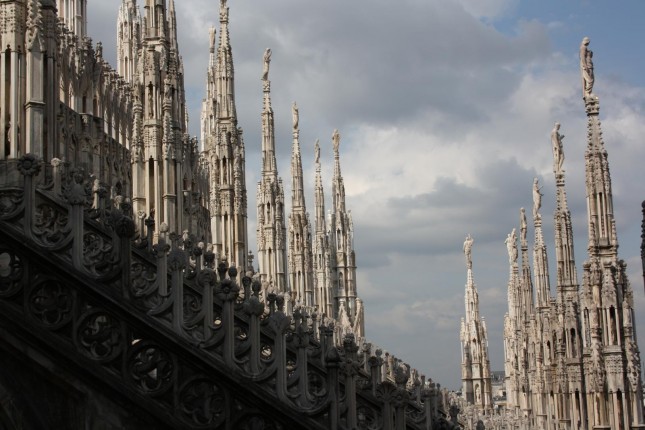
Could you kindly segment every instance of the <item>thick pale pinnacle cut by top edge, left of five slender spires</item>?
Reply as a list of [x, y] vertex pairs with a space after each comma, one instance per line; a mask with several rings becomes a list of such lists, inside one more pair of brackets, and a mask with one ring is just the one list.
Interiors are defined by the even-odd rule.
[[[132, 202], [171, 231], [207, 227], [191, 219], [200, 204], [197, 141], [188, 136], [184, 70], [174, 1], [122, 0], [117, 69], [132, 88]], [[202, 180], [203, 181], [203, 180]]]

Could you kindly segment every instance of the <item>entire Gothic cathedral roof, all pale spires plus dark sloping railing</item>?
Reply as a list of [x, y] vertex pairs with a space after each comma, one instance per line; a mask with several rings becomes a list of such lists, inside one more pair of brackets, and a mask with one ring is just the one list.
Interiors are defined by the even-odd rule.
[[[190, 137], [176, 2], [140, 3], [121, 0], [113, 68], [88, 37], [87, 0], [0, 1], [0, 428], [436, 430], [474, 428], [475, 417], [478, 429], [501, 428], [474, 239], [464, 243], [461, 324], [471, 406], [460, 411], [365, 338], [338, 130], [307, 155], [294, 102], [282, 180], [276, 153], [289, 143], [276, 141], [267, 49], [261, 139], [245, 142], [220, 0], [219, 27], [204, 34], [201, 136]], [[537, 179], [532, 267], [524, 209], [521, 252], [515, 229], [506, 240], [505, 428], [645, 428], [588, 45], [588, 258], [580, 284], [556, 123], [555, 297]], [[262, 154], [256, 255], [247, 145]], [[333, 155], [329, 206], [323, 147]], [[313, 217], [303, 157], [314, 160]]]

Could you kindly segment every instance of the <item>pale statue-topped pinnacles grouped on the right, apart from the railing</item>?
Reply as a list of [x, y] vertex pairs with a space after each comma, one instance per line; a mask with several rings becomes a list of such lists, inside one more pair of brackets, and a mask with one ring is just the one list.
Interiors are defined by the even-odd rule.
[[[565, 191], [563, 139], [560, 124], [551, 132], [556, 183], [556, 295], [551, 295], [547, 249], [542, 230], [542, 192], [533, 183], [533, 273], [529, 264], [527, 220], [520, 210], [520, 255], [516, 230], [508, 235], [508, 313], [504, 319], [506, 410], [491, 415], [487, 397], [473, 387], [486, 386], [490, 370], [468, 354], [483, 332], [473, 289], [470, 237], [464, 244], [468, 262], [467, 320], [462, 323], [464, 422], [481, 418], [486, 428], [639, 429], [645, 428], [641, 362], [634, 330], [633, 290], [626, 264], [618, 258], [618, 238], [607, 151], [602, 139], [600, 102], [592, 92], [594, 70], [589, 38], [580, 46], [582, 94], [587, 114], [585, 152], [588, 203], [588, 258], [578, 283], [571, 214]], [[645, 224], [644, 224], [645, 225]], [[474, 306], [473, 306], [474, 304]], [[475, 335], [473, 335], [475, 333]], [[477, 337], [477, 333], [481, 333]], [[471, 340], [472, 339], [472, 340]], [[473, 345], [473, 346], [471, 346]], [[474, 355], [474, 354], [470, 354]], [[480, 364], [480, 361], [483, 363]], [[483, 372], [483, 373], [477, 373]], [[490, 379], [488, 379], [490, 381]], [[486, 395], [489, 395], [486, 393]]]

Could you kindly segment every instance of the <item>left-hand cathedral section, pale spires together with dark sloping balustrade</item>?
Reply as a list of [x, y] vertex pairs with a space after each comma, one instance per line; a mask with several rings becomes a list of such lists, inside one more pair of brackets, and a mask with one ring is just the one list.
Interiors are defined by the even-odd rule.
[[[47, 360], [71, 357], [65, 377], [77, 386], [101, 391], [84, 385], [92, 375], [111, 387], [101, 405], [78, 406], [97, 426], [104, 417], [88, 411], [109, 404], [128, 411], [122, 428], [452, 428], [440, 387], [364, 338], [337, 132], [329, 213], [315, 148], [311, 233], [295, 105], [285, 227], [270, 52], [254, 273], [226, 1], [219, 44], [211, 31], [203, 152], [187, 133], [174, 1], [146, 0], [141, 15], [123, 0], [118, 72], [87, 38], [86, 10], [0, 3], [11, 17], [0, 44], [0, 328]], [[4, 384], [16, 398], [25, 389]]]

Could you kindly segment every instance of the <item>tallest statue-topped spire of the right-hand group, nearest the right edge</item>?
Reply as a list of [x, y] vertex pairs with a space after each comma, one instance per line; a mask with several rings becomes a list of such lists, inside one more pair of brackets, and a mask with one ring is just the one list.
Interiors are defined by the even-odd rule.
[[[600, 100], [592, 92], [592, 56], [589, 38], [585, 37], [580, 62], [587, 113], [585, 185], [589, 244], [588, 259], [583, 264], [581, 306], [585, 309], [583, 329], [589, 333], [585, 336], [585, 347], [591, 351], [584, 366], [584, 373], [590, 375], [588, 395], [594, 399], [589, 405], [594, 417], [590, 424], [598, 428], [624, 427], [623, 417], [610, 406], [620, 404], [630, 411], [630, 425], [635, 426], [632, 428], [641, 428], [645, 420], [640, 354], [631, 323], [634, 298], [626, 264], [618, 258], [609, 162], [599, 119]], [[615, 363], [621, 364], [617, 368]]]

